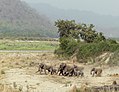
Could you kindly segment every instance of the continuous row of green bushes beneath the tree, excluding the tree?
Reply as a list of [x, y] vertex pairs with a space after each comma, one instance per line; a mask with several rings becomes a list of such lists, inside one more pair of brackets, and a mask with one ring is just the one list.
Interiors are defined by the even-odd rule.
[[119, 44], [115, 41], [107, 40], [99, 43], [77, 42], [72, 37], [63, 37], [60, 39], [60, 46], [55, 50], [59, 57], [69, 58], [76, 51], [78, 62], [87, 62], [88, 58], [96, 58], [104, 52], [115, 52], [119, 50]]

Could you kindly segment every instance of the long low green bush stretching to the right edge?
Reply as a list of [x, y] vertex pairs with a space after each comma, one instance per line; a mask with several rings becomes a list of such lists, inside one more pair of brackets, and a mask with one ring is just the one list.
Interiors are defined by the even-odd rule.
[[119, 44], [100, 43], [79, 43], [77, 59], [87, 60], [89, 57], [95, 58], [103, 52], [115, 52], [119, 50]]

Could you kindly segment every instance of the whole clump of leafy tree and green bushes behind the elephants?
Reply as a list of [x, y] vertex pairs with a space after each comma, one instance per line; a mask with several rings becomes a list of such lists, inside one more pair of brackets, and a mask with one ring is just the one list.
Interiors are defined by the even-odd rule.
[[55, 50], [55, 54], [60, 57], [70, 57], [75, 54], [80, 62], [80, 60], [87, 61], [90, 57], [95, 58], [103, 52], [119, 50], [119, 44], [115, 40], [106, 39], [101, 32], [96, 32], [93, 24], [58, 20], [55, 25], [60, 34], [59, 48]]

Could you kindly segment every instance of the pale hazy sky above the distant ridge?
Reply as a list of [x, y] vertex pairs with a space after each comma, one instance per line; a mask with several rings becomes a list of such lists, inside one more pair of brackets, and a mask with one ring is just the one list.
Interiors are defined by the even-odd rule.
[[99, 14], [119, 16], [119, 0], [23, 0], [28, 3], [47, 3], [63, 9], [78, 9]]

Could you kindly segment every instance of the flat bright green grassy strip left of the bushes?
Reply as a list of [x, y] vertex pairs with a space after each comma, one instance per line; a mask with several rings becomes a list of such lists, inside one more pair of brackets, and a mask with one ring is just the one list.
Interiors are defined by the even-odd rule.
[[0, 50], [55, 50], [57, 41], [0, 40]]

